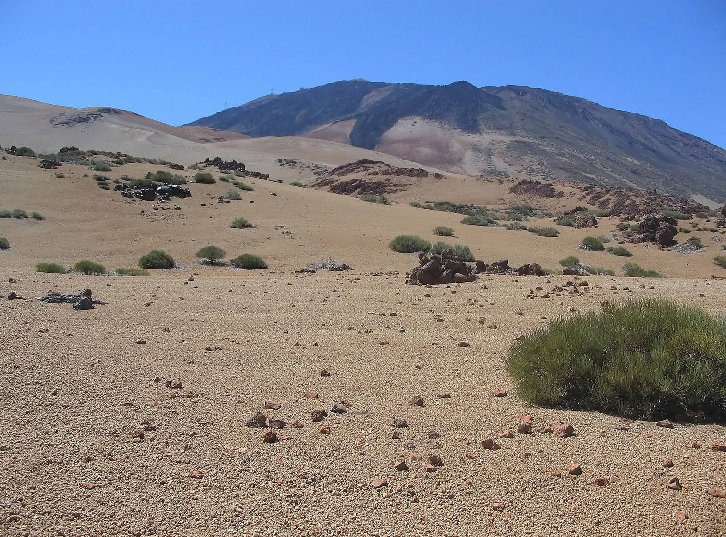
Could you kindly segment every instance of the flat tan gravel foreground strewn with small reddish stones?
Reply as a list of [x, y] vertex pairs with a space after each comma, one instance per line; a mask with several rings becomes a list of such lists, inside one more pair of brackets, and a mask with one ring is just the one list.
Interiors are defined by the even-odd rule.
[[[588, 277], [579, 296], [527, 299], [566, 278], [412, 288], [402, 274], [200, 272], [187, 285], [190, 272], [4, 276], [3, 298], [25, 299], [0, 302], [1, 535], [726, 532], [726, 499], [707, 493], [726, 491], [726, 453], [708, 449], [725, 427], [531, 407], [504, 367], [545, 317], [635, 296], [722, 312], [726, 281]], [[36, 300], [86, 287], [107, 304]], [[248, 427], [256, 412], [286, 422], [279, 441]], [[519, 433], [521, 415], [576, 434]]]

